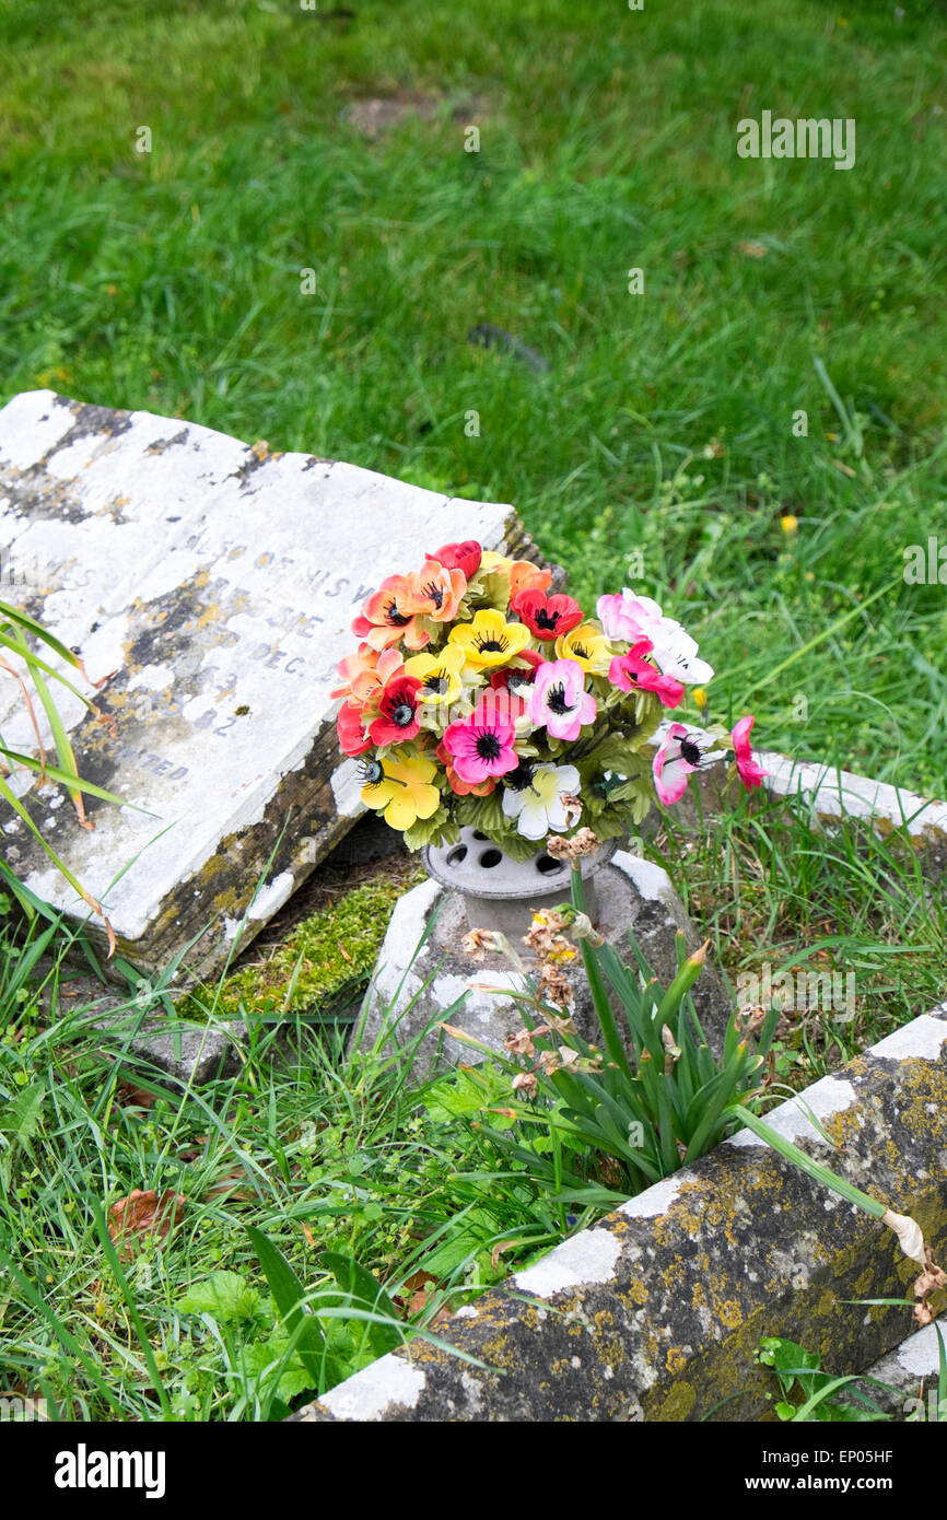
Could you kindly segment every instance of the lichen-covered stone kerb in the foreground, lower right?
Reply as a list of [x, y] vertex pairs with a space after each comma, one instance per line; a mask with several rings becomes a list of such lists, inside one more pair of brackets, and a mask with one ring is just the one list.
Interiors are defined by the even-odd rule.
[[[827, 1145], [807, 1110], [830, 1135]], [[912, 1214], [947, 1254], [947, 1005], [783, 1104], [769, 1122]], [[562, 1242], [295, 1421], [759, 1420], [781, 1335], [863, 1371], [911, 1330], [917, 1266], [894, 1234], [740, 1131]]]

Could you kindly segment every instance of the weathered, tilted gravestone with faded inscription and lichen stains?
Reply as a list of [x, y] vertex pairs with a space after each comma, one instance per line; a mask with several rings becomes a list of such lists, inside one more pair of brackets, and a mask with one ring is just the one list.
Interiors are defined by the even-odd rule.
[[[509, 506], [176, 418], [50, 391], [0, 410], [0, 599], [79, 649], [90, 681], [108, 675], [88, 692], [111, 733], [56, 701], [79, 774], [144, 812], [87, 801], [87, 831], [58, 789], [38, 795], [23, 771], [17, 787], [137, 965], [161, 968], [205, 930], [187, 964], [211, 974], [274, 848], [242, 945], [362, 812], [336, 748], [336, 663], [369, 591], [456, 538], [531, 550]], [[3, 673], [0, 734], [33, 749]], [[17, 874], [85, 918], [5, 804], [0, 828]]]

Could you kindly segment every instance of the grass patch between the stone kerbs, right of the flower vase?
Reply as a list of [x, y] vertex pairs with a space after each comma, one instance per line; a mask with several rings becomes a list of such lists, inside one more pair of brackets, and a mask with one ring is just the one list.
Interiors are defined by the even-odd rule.
[[797, 994], [800, 973], [841, 977], [839, 1006], [804, 993], [780, 1021], [774, 1078], [797, 1088], [939, 1003], [947, 959], [944, 903], [911, 845], [851, 822], [813, 825], [786, 801], [737, 798], [696, 828], [666, 816], [648, 844], [736, 991], [742, 973], [762, 985], [766, 964]]

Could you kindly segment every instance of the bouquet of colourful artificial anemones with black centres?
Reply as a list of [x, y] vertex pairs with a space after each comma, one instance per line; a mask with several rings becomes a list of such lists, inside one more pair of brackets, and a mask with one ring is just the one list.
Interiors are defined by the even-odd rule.
[[679, 623], [629, 590], [585, 617], [550, 585], [549, 568], [473, 540], [444, 544], [389, 576], [354, 620], [359, 648], [333, 692], [339, 745], [360, 760], [365, 804], [412, 850], [453, 844], [462, 825], [514, 859], [579, 827], [611, 839], [727, 752], [760, 784], [752, 717], [733, 734], [675, 722], [643, 754], [684, 689], [713, 676]]

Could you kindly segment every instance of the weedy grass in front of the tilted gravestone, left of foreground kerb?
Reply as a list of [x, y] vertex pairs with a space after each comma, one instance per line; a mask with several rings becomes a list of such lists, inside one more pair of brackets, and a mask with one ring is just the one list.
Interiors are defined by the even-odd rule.
[[[280, 1418], [378, 1354], [372, 1306], [324, 1252], [385, 1284], [382, 1332], [400, 1344], [591, 1218], [567, 1216], [464, 1119], [433, 1117], [407, 1058], [344, 1064], [330, 1032], [298, 1020], [280, 1049], [255, 1028], [231, 1079], [155, 1081], [129, 1052], [134, 1018], [103, 1035], [91, 1006], [58, 996], [67, 936], [46, 979], [21, 980], [41, 927], [0, 915], [0, 1388], [46, 1397], [52, 1417]], [[135, 1189], [179, 1195], [181, 1216], [123, 1259], [103, 1222]], [[325, 1327], [315, 1374], [248, 1227]]]

